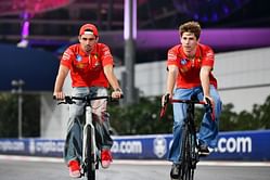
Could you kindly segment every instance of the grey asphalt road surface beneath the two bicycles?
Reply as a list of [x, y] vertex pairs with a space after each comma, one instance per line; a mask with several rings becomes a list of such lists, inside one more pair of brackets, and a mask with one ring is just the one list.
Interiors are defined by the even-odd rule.
[[[169, 180], [167, 162], [115, 160], [110, 169], [100, 169], [98, 180]], [[67, 180], [61, 159], [9, 158], [0, 156], [0, 180]], [[200, 162], [195, 180], [269, 180], [270, 164]]]

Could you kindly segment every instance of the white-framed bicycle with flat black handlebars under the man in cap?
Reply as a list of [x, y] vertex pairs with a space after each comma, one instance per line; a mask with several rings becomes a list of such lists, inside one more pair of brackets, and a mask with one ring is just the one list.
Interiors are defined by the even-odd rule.
[[[123, 98], [123, 97], [121, 97]], [[55, 98], [54, 98], [55, 99]], [[80, 100], [86, 103], [85, 114], [86, 123], [83, 125], [82, 134], [82, 164], [81, 164], [81, 177], [86, 177], [87, 180], [95, 180], [95, 170], [99, 169], [101, 157], [100, 150], [97, 147], [95, 141], [95, 129], [92, 121], [92, 108], [91, 101], [93, 100], [110, 100], [113, 101], [112, 97], [65, 97], [64, 101], [59, 104], [75, 104], [74, 100]]]

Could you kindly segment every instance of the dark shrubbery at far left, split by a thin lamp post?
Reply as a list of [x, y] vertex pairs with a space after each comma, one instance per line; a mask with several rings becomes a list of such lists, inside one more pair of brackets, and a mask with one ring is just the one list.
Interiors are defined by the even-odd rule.
[[[23, 94], [23, 137], [40, 136], [40, 100], [38, 94]], [[17, 95], [0, 93], [0, 138], [17, 138]]]

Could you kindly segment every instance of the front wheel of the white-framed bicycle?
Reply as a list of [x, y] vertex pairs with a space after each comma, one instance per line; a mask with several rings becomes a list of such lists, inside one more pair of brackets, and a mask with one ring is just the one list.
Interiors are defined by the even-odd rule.
[[86, 167], [85, 167], [85, 172], [87, 180], [95, 180], [95, 162], [94, 162], [94, 153], [93, 153], [93, 147], [92, 147], [92, 137], [91, 137], [91, 127], [87, 126], [86, 129], [86, 136], [87, 141], [86, 141]]

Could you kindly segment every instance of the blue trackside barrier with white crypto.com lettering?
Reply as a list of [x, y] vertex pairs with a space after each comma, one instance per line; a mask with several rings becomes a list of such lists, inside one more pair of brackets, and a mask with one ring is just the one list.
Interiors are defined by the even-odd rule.
[[[171, 134], [115, 136], [115, 159], [166, 159]], [[62, 157], [64, 140], [0, 139], [0, 154]], [[220, 132], [213, 160], [270, 160], [270, 130]]]

